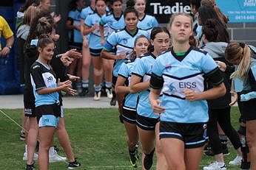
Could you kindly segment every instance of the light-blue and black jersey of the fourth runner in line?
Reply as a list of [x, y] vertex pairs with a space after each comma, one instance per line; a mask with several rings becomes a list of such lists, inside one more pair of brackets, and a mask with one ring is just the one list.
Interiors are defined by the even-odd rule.
[[[134, 41], [139, 35], [145, 35], [146, 38], [149, 38], [149, 33], [141, 29], [137, 29], [133, 35], [127, 31], [126, 27], [122, 30], [112, 32], [112, 34], [105, 41], [104, 49], [110, 52], [113, 48], [115, 48], [116, 55], [124, 52], [127, 54], [127, 59], [129, 59], [129, 54], [132, 52], [134, 47]], [[118, 77], [118, 70], [124, 61], [124, 59], [115, 60], [113, 76]]]

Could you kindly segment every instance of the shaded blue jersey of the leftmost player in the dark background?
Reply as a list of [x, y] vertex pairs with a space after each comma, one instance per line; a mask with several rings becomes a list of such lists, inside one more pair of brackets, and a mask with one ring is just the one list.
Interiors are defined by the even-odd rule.
[[[68, 13], [67, 21], [71, 21], [71, 24], [73, 26], [80, 25], [80, 19], [81, 19], [81, 11], [74, 9]], [[81, 35], [81, 32], [78, 31], [77, 29], [71, 29], [68, 32], [68, 37], [69, 37], [70, 46], [73, 46], [73, 43], [83, 42], [83, 37]]]

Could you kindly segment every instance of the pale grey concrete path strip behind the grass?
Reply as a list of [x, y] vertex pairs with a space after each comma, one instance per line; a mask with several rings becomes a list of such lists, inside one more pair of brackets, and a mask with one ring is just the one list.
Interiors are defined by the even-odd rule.
[[[101, 97], [94, 101], [93, 97], [67, 96], [63, 98], [64, 108], [118, 108], [110, 106], [110, 99]], [[0, 95], [0, 109], [23, 108], [23, 95]]]

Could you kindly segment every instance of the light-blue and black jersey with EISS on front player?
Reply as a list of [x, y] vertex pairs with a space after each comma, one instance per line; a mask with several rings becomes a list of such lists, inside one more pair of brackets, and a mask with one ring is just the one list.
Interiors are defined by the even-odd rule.
[[189, 102], [183, 90], [204, 91], [207, 77], [212, 85], [220, 85], [223, 77], [209, 54], [191, 47], [183, 56], [177, 56], [173, 49], [158, 56], [152, 68], [150, 87], [162, 89], [161, 106], [165, 112], [161, 121], [176, 123], [204, 123], [209, 119], [206, 100]]

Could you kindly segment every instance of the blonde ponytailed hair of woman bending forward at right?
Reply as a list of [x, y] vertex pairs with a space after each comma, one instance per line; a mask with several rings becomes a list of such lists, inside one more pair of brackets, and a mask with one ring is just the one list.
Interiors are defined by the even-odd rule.
[[225, 50], [226, 60], [238, 60], [241, 57], [238, 69], [230, 78], [246, 79], [251, 64], [251, 50], [244, 43], [229, 43]]

